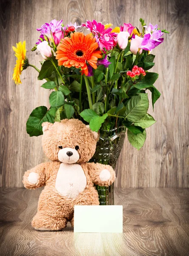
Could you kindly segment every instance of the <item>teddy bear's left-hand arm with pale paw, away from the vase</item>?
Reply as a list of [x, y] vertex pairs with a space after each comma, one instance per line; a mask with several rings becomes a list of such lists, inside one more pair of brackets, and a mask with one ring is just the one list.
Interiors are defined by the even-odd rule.
[[51, 162], [40, 163], [25, 172], [23, 184], [26, 189], [35, 189], [44, 186], [48, 179], [48, 168]]

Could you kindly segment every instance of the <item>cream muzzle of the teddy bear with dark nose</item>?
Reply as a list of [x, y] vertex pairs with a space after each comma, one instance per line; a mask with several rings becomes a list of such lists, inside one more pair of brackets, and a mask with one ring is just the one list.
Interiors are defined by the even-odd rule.
[[75, 148], [62, 148], [58, 152], [58, 159], [62, 163], [76, 163], [79, 153]]

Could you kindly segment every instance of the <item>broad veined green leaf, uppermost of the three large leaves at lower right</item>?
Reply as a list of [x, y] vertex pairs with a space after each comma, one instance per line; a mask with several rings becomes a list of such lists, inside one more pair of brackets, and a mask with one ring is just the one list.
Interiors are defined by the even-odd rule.
[[139, 93], [137, 96], [133, 96], [126, 106], [124, 116], [129, 121], [140, 120], [148, 111], [149, 101], [147, 93]]

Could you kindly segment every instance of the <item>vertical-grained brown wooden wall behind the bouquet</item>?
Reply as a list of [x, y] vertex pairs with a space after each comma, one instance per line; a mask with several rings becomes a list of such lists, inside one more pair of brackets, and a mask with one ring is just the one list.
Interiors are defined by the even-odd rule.
[[[31, 52], [39, 38], [36, 28], [52, 19], [85, 22], [93, 18], [120, 26], [158, 23], [170, 34], [153, 50], [156, 87], [162, 93], [137, 151], [127, 140], [118, 161], [119, 187], [189, 187], [189, 2], [188, 0], [11, 0], [0, 3], [0, 186], [22, 186], [25, 170], [46, 161], [41, 137], [29, 137], [25, 123], [39, 105], [48, 106], [48, 91], [40, 88], [37, 71], [23, 71], [19, 86], [12, 79], [12, 46], [26, 40], [27, 57], [39, 67], [41, 55]], [[150, 108], [150, 113], [152, 109]]]

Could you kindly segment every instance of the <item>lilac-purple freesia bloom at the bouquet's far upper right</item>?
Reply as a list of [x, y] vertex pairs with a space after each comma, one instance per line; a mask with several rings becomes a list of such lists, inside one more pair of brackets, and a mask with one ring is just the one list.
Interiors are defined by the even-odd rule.
[[143, 41], [139, 48], [144, 49], [146, 51], [151, 51], [155, 47], [157, 47], [159, 44], [163, 43], [164, 38], [161, 38], [161, 36], [164, 33], [161, 32], [161, 30], [155, 30], [152, 35], [151, 33], [145, 34]]

